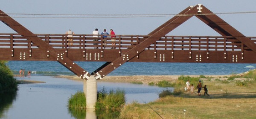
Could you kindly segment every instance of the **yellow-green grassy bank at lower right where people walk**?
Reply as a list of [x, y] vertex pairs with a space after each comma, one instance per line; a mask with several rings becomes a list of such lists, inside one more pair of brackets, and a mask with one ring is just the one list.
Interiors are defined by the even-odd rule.
[[[210, 96], [180, 93], [166, 95], [155, 102], [139, 104], [134, 102], [125, 105], [120, 119], [253, 119], [256, 111], [256, 72], [249, 72], [243, 76], [231, 76], [233, 80], [201, 79], [202, 85], [207, 85]], [[229, 77], [225, 77], [229, 78]], [[246, 78], [236, 81], [236, 78]], [[179, 84], [185, 84], [190, 79], [197, 83], [200, 79], [185, 76], [173, 84], [177, 89]], [[183, 86], [182, 85], [182, 86]], [[195, 84], [194, 84], [195, 86]], [[184, 92], [181, 90], [181, 92]], [[196, 92], [196, 89], [195, 89]], [[204, 90], [201, 90], [204, 94]], [[161, 117], [160, 117], [160, 116]]]

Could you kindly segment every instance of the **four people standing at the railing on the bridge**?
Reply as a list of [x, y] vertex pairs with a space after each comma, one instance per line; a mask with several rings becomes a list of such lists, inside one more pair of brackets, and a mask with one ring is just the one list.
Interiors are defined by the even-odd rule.
[[[73, 31], [71, 31], [70, 29], [66, 32], [66, 35], [67, 35], [67, 45], [69, 46], [69, 48], [71, 48], [71, 45], [73, 45], [73, 35], [75, 33]], [[107, 32], [106, 29], [104, 29], [101, 33], [102, 37], [103, 37], [103, 42], [104, 44], [103, 45], [107, 45], [106, 43], [106, 39], [104, 39], [105, 37], [108, 37], [109, 33]], [[111, 41], [112, 41], [112, 48], [114, 48], [114, 46], [116, 45], [116, 39], [114, 37], [116, 37], [116, 34], [115, 32], [113, 31], [113, 29], [110, 29], [110, 35], [111, 35]], [[93, 31], [93, 37], [99, 37], [99, 31], [98, 31], [98, 28], [95, 28], [95, 30]], [[97, 38], [93, 39], [93, 41], [98, 41]], [[93, 45], [98, 45], [97, 43], [93, 43]], [[95, 47], [97, 48], [97, 47]]]

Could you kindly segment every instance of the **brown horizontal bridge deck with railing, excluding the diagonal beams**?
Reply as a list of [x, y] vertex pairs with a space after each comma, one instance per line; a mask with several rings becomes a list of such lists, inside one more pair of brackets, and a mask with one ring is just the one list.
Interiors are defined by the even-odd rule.
[[[73, 61], [103, 62], [112, 62], [148, 37], [116, 35], [115, 38], [103, 38], [101, 35], [93, 37], [92, 34], [76, 34], [73, 35], [73, 45], [69, 46], [65, 34], [36, 35]], [[256, 37], [247, 38], [256, 42]], [[116, 45], [111, 45], [111, 39], [116, 39]], [[49, 52], [41, 52], [38, 46], [19, 34], [0, 34], [0, 55], [3, 56], [0, 60], [57, 61], [49, 56]], [[61, 59], [62, 54], [59, 55]], [[250, 48], [234, 37], [165, 36], [128, 62], [252, 63], [256, 62], [252, 60], [255, 56]]]

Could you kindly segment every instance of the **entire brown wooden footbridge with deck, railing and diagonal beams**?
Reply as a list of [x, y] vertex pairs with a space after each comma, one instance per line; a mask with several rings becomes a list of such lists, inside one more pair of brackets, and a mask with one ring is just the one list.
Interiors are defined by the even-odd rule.
[[[220, 36], [166, 35], [193, 16]], [[256, 37], [245, 37], [203, 5], [185, 8], [148, 35], [74, 34], [72, 45], [66, 34], [34, 34], [3, 11], [0, 20], [17, 32], [0, 33], [0, 60], [57, 61], [83, 79], [102, 79], [125, 62], [256, 63]], [[106, 63], [89, 73], [75, 61]]]

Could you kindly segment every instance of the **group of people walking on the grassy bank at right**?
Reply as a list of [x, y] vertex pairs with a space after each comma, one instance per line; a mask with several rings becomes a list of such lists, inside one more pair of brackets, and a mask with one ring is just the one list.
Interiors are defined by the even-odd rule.
[[[204, 88], [204, 96], [205, 96], [205, 95], [209, 96], [209, 94], [208, 94], [208, 89], [206, 88], [206, 86], [207, 86], [207, 85], [204, 85], [204, 87], [202, 87], [201, 80], [199, 80], [198, 85], [197, 85], [197, 88], [198, 88], [197, 94], [198, 94], [198, 96], [201, 96], [201, 92], [200, 92], [200, 91], [201, 91], [202, 88]], [[188, 79], [187, 82], [186, 82], [185, 91], [187, 91], [187, 93], [192, 93], [192, 94], [194, 93], [194, 85], [191, 84], [191, 86], [190, 86], [190, 81], [189, 81], [189, 79]]]

